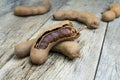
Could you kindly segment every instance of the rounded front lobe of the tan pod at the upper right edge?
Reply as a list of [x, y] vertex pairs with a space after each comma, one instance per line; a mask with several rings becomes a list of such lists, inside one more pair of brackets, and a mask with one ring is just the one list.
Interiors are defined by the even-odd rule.
[[112, 21], [113, 19], [115, 19], [116, 14], [113, 11], [106, 11], [102, 14], [102, 20], [103, 21]]

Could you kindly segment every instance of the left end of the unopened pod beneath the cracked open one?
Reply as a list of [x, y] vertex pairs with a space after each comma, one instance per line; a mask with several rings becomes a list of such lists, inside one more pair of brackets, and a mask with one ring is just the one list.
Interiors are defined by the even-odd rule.
[[21, 42], [14, 48], [14, 54], [19, 58], [24, 58], [30, 54], [30, 49], [35, 42], [35, 39]]

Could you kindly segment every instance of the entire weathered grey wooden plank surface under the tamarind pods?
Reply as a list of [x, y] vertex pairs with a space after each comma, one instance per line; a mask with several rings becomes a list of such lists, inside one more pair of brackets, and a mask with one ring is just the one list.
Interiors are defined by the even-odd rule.
[[[80, 58], [69, 60], [62, 54], [50, 53], [43, 65], [33, 65], [29, 57], [18, 59], [14, 46], [36, 37], [59, 21], [53, 13], [59, 9], [88, 11], [101, 19], [110, 3], [120, 0], [50, 0], [52, 9], [44, 15], [17, 17], [17, 5], [35, 5], [41, 0], [0, 0], [0, 80], [120, 80], [120, 18], [99, 29], [83, 30], [76, 40]], [[74, 21], [76, 27], [83, 24]]]

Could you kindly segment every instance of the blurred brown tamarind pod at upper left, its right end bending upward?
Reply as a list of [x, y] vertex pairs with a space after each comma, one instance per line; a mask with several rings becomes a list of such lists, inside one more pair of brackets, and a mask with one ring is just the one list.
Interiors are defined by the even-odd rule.
[[14, 14], [17, 16], [30, 16], [44, 14], [51, 8], [49, 0], [43, 0], [42, 4], [36, 6], [17, 6], [14, 8]]

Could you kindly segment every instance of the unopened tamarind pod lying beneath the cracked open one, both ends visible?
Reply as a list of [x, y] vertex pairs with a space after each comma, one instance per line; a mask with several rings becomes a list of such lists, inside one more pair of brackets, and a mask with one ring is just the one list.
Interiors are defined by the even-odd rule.
[[[24, 58], [30, 55], [30, 49], [36, 39], [21, 42], [15, 46], [15, 55], [19, 58]], [[79, 57], [80, 46], [75, 41], [62, 41], [56, 44], [51, 51], [59, 52], [69, 57], [70, 59]]]

